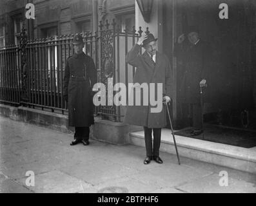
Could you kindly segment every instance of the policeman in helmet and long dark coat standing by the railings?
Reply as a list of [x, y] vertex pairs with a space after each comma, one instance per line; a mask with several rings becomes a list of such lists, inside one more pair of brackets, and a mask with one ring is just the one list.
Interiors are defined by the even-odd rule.
[[68, 123], [75, 127], [70, 145], [89, 144], [90, 126], [94, 124], [92, 88], [97, 82], [94, 60], [83, 52], [83, 37], [74, 35], [74, 55], [68, 57], [63, 80], [63, 97], [68, 102]]

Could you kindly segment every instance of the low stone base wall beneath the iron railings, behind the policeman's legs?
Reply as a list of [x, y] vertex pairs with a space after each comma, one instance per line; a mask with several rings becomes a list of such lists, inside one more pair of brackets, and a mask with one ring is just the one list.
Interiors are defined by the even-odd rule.
[[[12, 107], [0, 104], [0, 115], [12, 120], [35, 124], [63, 133], [74, 133], [74, 127], [68, 126], [68, 116], [48, 111], [41, 111], [23, 106]], [[95, 124], [91, 127], [90, 138], [110, 144], [128, 144], [130, 131], [141, 130], [142, 127], [128, 126], [121, 122], [111, 122], [95, 117]]]

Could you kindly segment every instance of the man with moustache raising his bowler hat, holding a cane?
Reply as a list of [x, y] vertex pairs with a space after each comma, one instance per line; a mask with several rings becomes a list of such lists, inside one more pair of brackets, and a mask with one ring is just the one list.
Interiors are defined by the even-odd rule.
[[[137, 44], [135, 44], [127, 54], [127, 61], [132, 66], [137, 67], [135, 75], [133, 78], [133, 84], [137, 85], [146, 84], [148, 86], [149, 95], [154, 95], [157, 97], [157, 89], [150, 88], [150, 83], [156, 88], [157, 83], [162, 83], [162, 100], [170, 101], [171, 97], [171, 78], [172, 78], [172, 68], [170, 62], [165, 55], [157, 52], [156, 41], [152, 33], [148, 33], [141, 38]], [[146, 50], [143, 55], [139, 55], [141, 46]], [[137, 91], [135, 91], [136, 93]], [[141, 100], [145, 100], [143, 92], [141, 92]], [[159, 148], [161, 143], [161, 128], [166, 126], [166, 110], [162, 106], [161, 111], [152, 112], [154, 107], [152, 104], [137, 106], [127, 106], [126, 116], [124, 122], [136, 126], [144, 127], [144, 138], [146, 145], [146, 159], [144, 164], [149, 164], [150, 160], [155, 160], [155, 162], [162, 164], [162, 160], [159, 157]], [[153, 131], [153, 147], [152, 147], [152, 131]]]

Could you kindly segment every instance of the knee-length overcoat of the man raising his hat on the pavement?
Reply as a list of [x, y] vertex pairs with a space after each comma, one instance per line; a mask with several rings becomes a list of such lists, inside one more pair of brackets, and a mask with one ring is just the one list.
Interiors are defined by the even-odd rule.
[[[162, 83], [162, 93], [171, 97], [171, 84], [172, 84], [172, 68], [167, 57], [161, 53], [156, 53], [156, 63], [151, 60], [150, 55], [144, 52], [143, 55], [139, 55], [140, 46], [135, 44], [132, 50], [127, 54], [127, 61], [132, 66], [137, 67], [135, 76], [133, 78], [133, 84], [139, 83]], [[150, 90], [150, 89], [149, 89]], [[149, 91], [150, 93], [150, 91]], [[143, 93], [141, 92], [141, 98]], [[155, 90], [155, 99], [157, 98], [157, 91]], [[161, 97], [162, 98], [162, 97]], [[141, 101], [142, 103], [143, 101]], [[166, 126], [166, 108], [162, 106], [160, 113], [151, 113], [150, 108], [152, 106], [127, 106], [126, 116], [124, 122], [137, 126], [146, 126], [150, 128], [162, 128]], [[155, 108], [155, 107], [154, 107]]]

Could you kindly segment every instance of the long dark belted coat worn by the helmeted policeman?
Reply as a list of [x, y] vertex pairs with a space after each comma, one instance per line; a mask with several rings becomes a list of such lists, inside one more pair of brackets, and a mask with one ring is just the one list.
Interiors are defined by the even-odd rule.
[[[86, 79], [83, 79], [83, 77]], [[77, 78], [81, 77], [81, 78]], [[97, 71], [91, 57], [85, 53], [74, 54], [66, 61], [63, 97], [68, 100], [68, 123], [73, 127], [94, 124], [92, 87], [97, 81]]]

